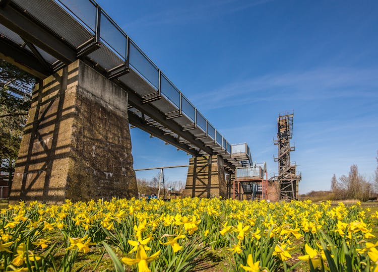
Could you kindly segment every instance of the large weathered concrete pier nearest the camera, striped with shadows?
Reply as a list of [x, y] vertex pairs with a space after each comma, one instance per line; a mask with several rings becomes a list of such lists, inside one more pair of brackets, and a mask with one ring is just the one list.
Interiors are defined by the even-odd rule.
[[38, 83], [10, 202], [138, 195], [128, 95], [77, 60]]

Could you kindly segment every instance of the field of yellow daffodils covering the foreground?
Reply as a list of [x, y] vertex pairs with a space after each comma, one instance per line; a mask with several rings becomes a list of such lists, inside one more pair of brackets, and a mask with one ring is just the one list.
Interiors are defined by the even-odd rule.
[[220, 198], [21, 202], [1, 210], [0, 270], [194, 271], [223, 250], [224, 271], [378, 271], [378, 212], [367, 212]]

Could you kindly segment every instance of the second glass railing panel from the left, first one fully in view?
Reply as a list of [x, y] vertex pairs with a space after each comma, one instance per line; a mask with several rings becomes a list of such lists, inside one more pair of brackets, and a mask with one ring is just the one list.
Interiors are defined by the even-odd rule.
[[119, 55], [126, 58], [126, 36], [101, 13], [100, 37]]

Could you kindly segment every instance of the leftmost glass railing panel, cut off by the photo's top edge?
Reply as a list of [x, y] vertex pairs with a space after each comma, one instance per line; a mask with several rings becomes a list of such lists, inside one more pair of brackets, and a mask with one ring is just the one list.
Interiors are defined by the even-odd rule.
[[95, 31], [96, 7], [88, 0], [59, 0], [76, 17], [82, 20], [90, 29]]

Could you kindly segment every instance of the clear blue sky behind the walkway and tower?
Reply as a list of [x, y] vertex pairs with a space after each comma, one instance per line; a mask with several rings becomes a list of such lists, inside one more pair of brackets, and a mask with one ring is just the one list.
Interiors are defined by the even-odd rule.
[[[230, 143], [277, 172], [279, 113], [294, 111], [299, 192], [327, 190], [378, 150], [378, 1], [98, 1]], [[132, 129], [134, 168], [190, 156]], [[137, 172], [151, 178], [158, 171]], [[165, 171], [170, 181], [186, 169]]]

